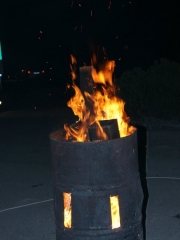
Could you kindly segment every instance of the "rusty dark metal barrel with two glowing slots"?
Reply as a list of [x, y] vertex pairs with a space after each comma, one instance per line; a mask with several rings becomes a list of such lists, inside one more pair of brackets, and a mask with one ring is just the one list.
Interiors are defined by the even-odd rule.
[[64, 134], [50, 134], [56, 240], [142, 240], [137, 131], [96, 142], [65, 141]]

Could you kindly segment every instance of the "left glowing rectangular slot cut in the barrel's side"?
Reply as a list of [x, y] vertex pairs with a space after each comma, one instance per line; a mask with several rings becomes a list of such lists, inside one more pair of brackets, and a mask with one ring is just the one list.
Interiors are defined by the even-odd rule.
[[71, 193], [63, 192], [63, 199], [64, 199], [64, 227], [71, 228], [72, 222]]

